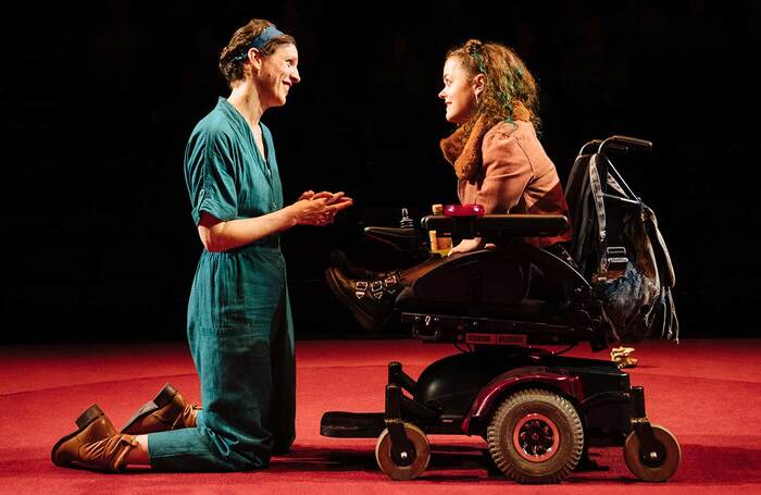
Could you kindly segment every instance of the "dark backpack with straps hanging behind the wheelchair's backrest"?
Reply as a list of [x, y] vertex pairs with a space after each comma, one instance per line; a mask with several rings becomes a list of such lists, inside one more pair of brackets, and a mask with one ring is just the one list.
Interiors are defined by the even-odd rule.
[[649, 151], [646, 140], [612, 136], [586, 144], [565, 187], [571, 255], [592, 285], [609, 344], [649, 337], [678, 341], [671, 256], [656, 213], [637, 197], [611, 154]]

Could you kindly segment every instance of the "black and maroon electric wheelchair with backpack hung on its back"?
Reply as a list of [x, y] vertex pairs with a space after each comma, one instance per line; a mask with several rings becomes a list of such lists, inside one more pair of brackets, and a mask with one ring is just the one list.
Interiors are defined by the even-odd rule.
[[[383, 412], [325, 412], [321, 434], [377, 437], [379, 468], [410, 480], [427, 467], [427, 435], [485, 438], [494, 465], [519, 483], [557, 483], [590, 447], [622, 446], [640, 480], [676, 471], [679, 444], [651, 424], [641, 386], [609, 360], [573, 358], [536, 345], [588, 342], [592, 350], [651, 336], [678, 338], [674, 272], [654, 214], [634, 195], [611, 157], [648, 151], [646, 140], [612, 136], [586, 144], [565, 187], [573, 259], [521, 242], [563, 228], [562, 215], [483, 215], [477, 207], [365, 227], [399, 249], [423, 249], [425, 231], [454, 240], [486, 237], [497, 249], [442, 258], [395, 304], [415, 338], [451, 342], [460, 354], [417, 378], [388, 364]], [[554, 294], [537, 297], [537, 274]]]

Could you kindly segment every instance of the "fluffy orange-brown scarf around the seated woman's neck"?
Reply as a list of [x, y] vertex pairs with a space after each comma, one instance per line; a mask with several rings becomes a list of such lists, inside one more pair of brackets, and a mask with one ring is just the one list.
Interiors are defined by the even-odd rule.
[[[531, 112], [521, 101], [513, 101], [513, 120], [528, 121]], [[460, 181], [475, 182], [483, 159], [481, 148], [484, 135], [495, 124], [494, 119], [482, 114], [476, 119], [473, 128], [465, 134], [465, 126], [458, 127], [451, 136], [441, 139], [440, 147], [444, 158], [454, 166], [454, 173]]]

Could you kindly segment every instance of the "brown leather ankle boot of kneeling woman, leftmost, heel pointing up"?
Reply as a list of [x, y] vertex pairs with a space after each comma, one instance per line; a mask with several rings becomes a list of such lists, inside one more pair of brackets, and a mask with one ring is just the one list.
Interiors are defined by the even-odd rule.
[[127, 453], [137, 447], [133, 435], [118, 433], [97, 405], [76, 420], [78, 430], [64, 436], [50, 454], [55, 466], [98, 471], [121, 471]]

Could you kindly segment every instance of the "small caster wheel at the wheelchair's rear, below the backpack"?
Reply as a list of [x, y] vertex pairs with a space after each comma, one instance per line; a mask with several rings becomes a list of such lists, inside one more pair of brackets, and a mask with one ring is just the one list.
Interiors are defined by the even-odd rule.
[[632, 432], [624, 445], [624, 460], [632, 474], [643, 481], [668, 481], [679, 467], [682, 448], [676, 437], [663, 426], [653, 424], [652, 434], [663, 444], [663, 450], [647, 453], [640, 448], [639, 437]]

